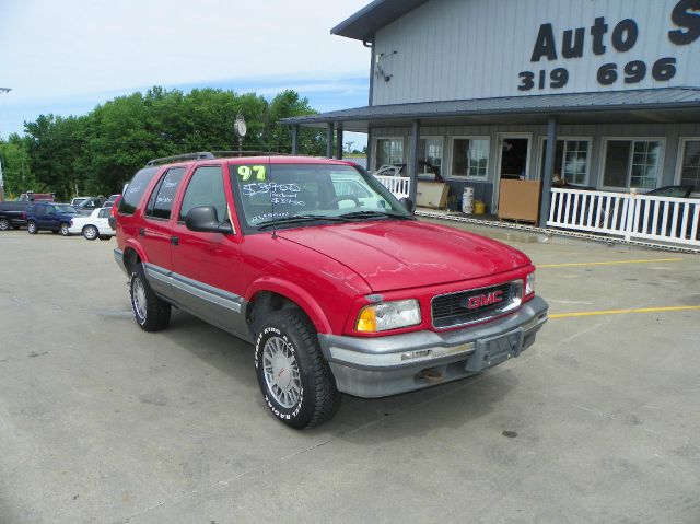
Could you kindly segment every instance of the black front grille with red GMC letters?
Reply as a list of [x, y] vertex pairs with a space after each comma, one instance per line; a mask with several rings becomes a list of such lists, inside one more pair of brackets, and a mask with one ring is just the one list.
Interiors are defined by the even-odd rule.
[[[489, 303], [488, 298], [493, 296], [492, 293], [497, 292], [500, 292], [499, 296], [502, 301]], [[469, 289], [433, 296], [433, 327], [444, 329], [488, 321], [517, 307], [522, 295], [523, 282], [513, 280], [488, 288]]]

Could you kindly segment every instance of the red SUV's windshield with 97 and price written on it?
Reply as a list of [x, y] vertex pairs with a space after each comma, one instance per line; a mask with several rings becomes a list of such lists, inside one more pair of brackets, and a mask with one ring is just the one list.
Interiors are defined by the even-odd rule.
[[248, 229], [410, 218], [366, 173], [338, 164], [233, 164], [242, 221]]

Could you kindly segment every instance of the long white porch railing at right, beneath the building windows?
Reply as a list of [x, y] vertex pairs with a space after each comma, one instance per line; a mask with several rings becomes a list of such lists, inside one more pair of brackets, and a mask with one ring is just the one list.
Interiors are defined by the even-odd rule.
[[700, 246], [700, 199], [552, 188], [547, 225]]

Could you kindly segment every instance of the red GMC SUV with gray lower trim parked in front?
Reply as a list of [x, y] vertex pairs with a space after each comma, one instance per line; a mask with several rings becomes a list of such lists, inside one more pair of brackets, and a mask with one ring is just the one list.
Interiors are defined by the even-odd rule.
[[306, 428], [339, 392], [394, 395], [517, 357], [547, 319], [527, 256], [407, 207], [349, 162], [162, 159], [124, 193], [115, 258], [141, 328], [175, 306], [253, 342], [270, 411]]

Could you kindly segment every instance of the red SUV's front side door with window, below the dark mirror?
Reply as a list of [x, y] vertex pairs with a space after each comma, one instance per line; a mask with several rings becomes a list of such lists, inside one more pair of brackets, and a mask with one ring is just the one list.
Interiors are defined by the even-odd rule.
[[173, 224], [173, 287], [176, 301], [197, 316], [238, 336], [247, 337], [243, 283], [238, 278], [242, 236], [190, 231], [190, 209], [213, 206], [219, 222], [232, 223], [231, 187], [221, 165], [198, 166], [185, 187]]

